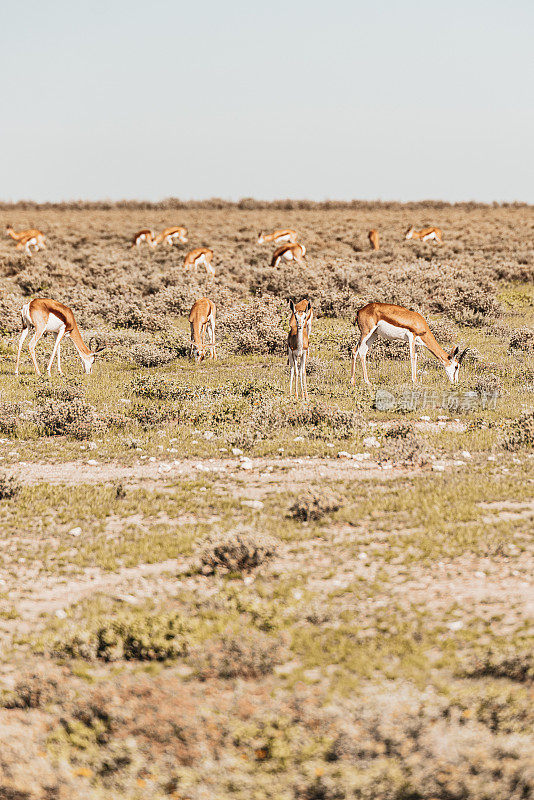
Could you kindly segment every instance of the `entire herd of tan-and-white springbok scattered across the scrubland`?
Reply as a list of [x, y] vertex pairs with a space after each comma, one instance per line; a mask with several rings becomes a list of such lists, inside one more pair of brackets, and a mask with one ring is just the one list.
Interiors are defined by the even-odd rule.
[[[34, 251], [46, 247], [46, 240], [43, 233], [37, 229], [19, 231], [18, 233], [8, 226], [7, 233], [17, 242], [17, 249], [25, 250], [31, 255]], [[373, 229], [368, 234], [369, 242], [374, 250], [380, 247], [378, 231]], [[424, 228], [416, 231], [410, 227], [405, 233], [405, 239], [420, 239], [422, 241], [443, 242], [442, 233], [439, 228]], [[142, 243], [149, 247], [157, 247], [160, 244], [173, 245], [175, 241], [182, 244], [187, 243], [187, 229], [183, 227], [165, 228], [161, 233], [155, 235], [149, 228], [138, 231], [132, 239], [132, 246], [139, 247]], [[278, 245], [271, 259], [271, 266], [277, 267], [280, 261], [295, 261], [301, 263], [306, 256], [306, 248], [297, 241], [297, 232], [290, 229], [281, 229], [272, 233], [260, 232], [258, 244], [273, 242]], [[184, 259], [183, 268], [196, 270], [199, 266], [204, 266], [206, 273], [213, 277], [215, 268], [212, 265], [213, 250], [209, 247], [197, 247], [187, 253]], [[308, 298], [294, 303], [289, 301], [291, 316], [289, 319], [289, 336], [287, 338], [287, 353], [289, 359], [290, 383], [289, 394], [293, 394], [293, 381], [295, 382], [295, 398], [299, 397], [299, 386], [301, 397], [308, 399], [308, 387], [306, 382], [306, 359], [308, 355], [309, 342], [312, 332], [313, 308]], [[15, 374], [19, 373], [20, 356], [24, 341], [33, 329], [33, 336], [30, 338], [28, 348], [33, 362], [33, 366], [40, 375], [39, 366], [35, 358], [35, 348], [38, 341], [45, 333], [55, 333], [56, 340], [52, 350], [52, 355], [48, 363], [47, 372], [50, 375], [54, 359], [57, 357], [57, 367], [60, 375], [61, 369], [61, 341], [68, 335], [82, 360], [86, 373], [90, 373], [97, 355], [105, 350], [105, 345], [101, 346], [96, 341], [95, 349], [87, 347], [80, 334], [78, 325], [74, 318], [74, 313], [70, 308], [47, 298], [36, 298], [26, 303], [21, 309], [22, 333], [19, 340]], [[212, 359], [217, 358], [215, 343], [215, 324], [216, 307], [215, 303], [208, 297], [198, 299], [189, 314], [191, 327], [191, 357], [196, 362], [203, 361], [207, 355]], [[403, 306], [392, 305], [391, 303], [368, 303], [360, 308], [356, 315], [355, 324], [360, 331], [358, 345], [352, 350], [351, 383], [354, 385], [356, 373], [356, 359], [359, 357], [363, 378], [366, 384], [370, 385], [367, 374], [366, 358], [370, 348], [378, 337], [389, 341], [400, 340], [408, 344], [410, 353], [412, 381], [417, 381], [417, 348], [426, 347], [437, 358], [445, 368], [447, 377], [451, 383], [458, 382], [460, 364], [467, 349], [460, 352], [458, 347], [454, 347], [450, 353], [445, 352], [436, 341], [432, 331], [428, 327], [426, 320], [416, 311], [410, 311]]]

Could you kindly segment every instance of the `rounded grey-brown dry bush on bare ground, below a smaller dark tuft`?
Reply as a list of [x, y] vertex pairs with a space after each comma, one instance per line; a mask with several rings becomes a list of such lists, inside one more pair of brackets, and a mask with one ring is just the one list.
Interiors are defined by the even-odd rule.
[[263, 533], [210, 534], [199, 542], [200, 569], [205, 575], [219, 570], [250, 572], [276, 554], [276, 542]]

